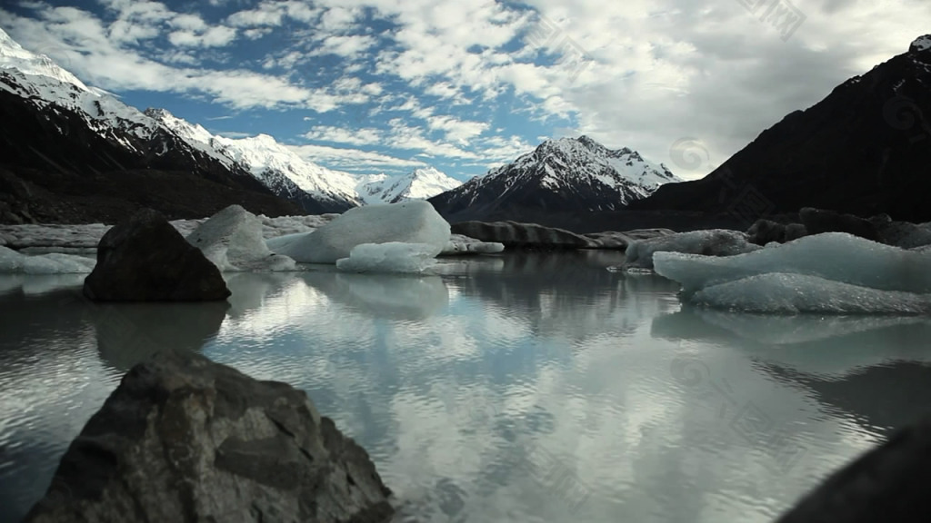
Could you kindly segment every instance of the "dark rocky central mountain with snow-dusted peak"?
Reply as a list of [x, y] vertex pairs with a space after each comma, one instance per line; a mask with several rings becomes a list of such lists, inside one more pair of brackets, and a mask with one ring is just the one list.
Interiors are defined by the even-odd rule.
[[636, 151], [587, 136], [541, 143], [532, 153], [430, 198], [450, 221], [524, 220], [540, 213], [624, 208], [680, 181]]

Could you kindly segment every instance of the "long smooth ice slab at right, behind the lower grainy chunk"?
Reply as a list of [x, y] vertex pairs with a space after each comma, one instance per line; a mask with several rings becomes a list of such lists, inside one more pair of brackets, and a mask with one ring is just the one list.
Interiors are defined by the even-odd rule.
[[681, 283], [686, 297], [701, 288], [766, 273], [812, 275], [880, 290], [931, 292], [931, 254], [846, 233], [804, 236], [725, 258], [657, 252], [654, 269]]

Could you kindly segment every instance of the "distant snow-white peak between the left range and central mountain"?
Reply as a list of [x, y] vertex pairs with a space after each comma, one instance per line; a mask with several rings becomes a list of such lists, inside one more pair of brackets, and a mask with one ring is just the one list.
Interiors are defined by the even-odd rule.
[[395, 204], [404, 200], [425, 200], [462, 185], [436, 168], [417, 168], [403, 176], [376, 174], [361, 179], [356, 187], [362, 202]]

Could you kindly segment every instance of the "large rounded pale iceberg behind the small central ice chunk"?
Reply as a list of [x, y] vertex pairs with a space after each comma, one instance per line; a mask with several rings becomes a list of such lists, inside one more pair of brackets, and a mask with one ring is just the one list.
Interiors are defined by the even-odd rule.
[[410, 200], [350, 208], [316, 231], [279, 236], [267, 244], [297, 262], [335, 263], [348, 258], [352, 248], [366, 243], [426, 244], [431, 247], [432, 256], [437, 256], [449, 241], [450, 224], [433, 206], [422, 200]]

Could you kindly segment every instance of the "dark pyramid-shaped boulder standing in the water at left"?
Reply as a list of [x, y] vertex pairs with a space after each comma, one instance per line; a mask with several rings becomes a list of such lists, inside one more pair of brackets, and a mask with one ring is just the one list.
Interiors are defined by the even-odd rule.
[[223, 275], [160, 213], [142, 209], [101, 238], [84, 294], [106, 302], [225, 300]]

